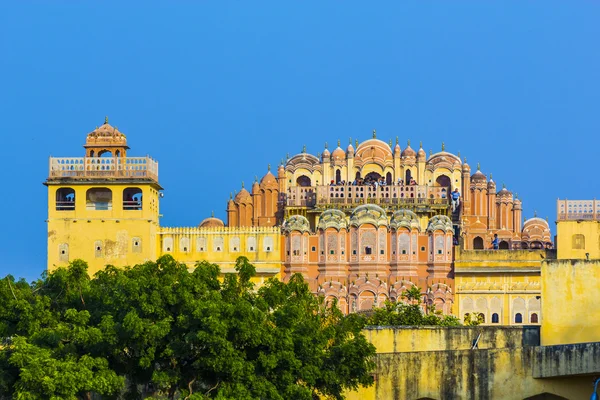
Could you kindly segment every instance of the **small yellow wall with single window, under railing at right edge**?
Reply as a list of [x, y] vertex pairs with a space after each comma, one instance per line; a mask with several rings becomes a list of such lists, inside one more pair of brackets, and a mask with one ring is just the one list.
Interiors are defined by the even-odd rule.
[[[600, 221], [557, 221], [556, 235], [558, 259], [583, 259], [586, 253], [590, 259], [600, 259]], [[584, 236], [583, 249], [574, 248], [573, 235]]]

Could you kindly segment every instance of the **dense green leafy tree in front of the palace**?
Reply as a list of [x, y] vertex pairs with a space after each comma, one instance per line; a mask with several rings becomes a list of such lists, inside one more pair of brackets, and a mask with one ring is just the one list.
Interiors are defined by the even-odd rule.
[[0, 397], [17, 399], [343, 398], [372, 384], [364, 318], [325, 307], [302, 276], [255, 290], [237, 274], [170, 256], [87, 265], [32, 284], [0, 280]]

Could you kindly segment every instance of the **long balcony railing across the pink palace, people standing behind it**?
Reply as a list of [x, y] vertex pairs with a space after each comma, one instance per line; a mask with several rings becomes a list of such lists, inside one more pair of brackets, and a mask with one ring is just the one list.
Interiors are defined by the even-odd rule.
[[283, 199], [288, 207], [315, 207], [328, 204], [439, 205], [448, 206], [449, 192], [439, 186], [294, 186]]

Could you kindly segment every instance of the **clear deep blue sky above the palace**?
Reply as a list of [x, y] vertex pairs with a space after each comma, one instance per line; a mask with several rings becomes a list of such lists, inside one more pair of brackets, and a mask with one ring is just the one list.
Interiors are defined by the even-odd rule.
[[600, 192], [599, 21], [585, 0], [4, 2], [0, 276], [44, 270], [48, 157], [105, 115], [159, 161], [164, 226], [377, 129], [444, 141], [554, 232], [557, 198]]

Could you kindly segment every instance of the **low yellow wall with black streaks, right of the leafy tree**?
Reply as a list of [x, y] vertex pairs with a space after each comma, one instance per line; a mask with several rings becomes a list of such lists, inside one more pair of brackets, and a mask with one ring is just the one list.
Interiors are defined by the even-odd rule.
[[[588, 399], [593, 377], [533, 377], [538, 347], [527, 332], [516, 327], [365, 329], [377, 347], [375, 384], [347, 392], [347, 399], [513, 400], [541, 394]], [[480, 334], [478, 349], [470, 349]]]

